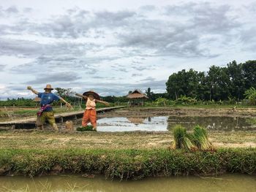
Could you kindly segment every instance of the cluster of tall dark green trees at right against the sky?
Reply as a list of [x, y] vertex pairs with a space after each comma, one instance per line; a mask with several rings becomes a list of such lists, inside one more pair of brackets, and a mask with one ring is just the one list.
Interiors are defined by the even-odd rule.
[[201, 101], [241, 101], [246, 90], [256, 88], [256, 61], [211, 66], [207, 73], [184, 69], [171, 74], [166, 87], [167, 99], [188, 96]]

